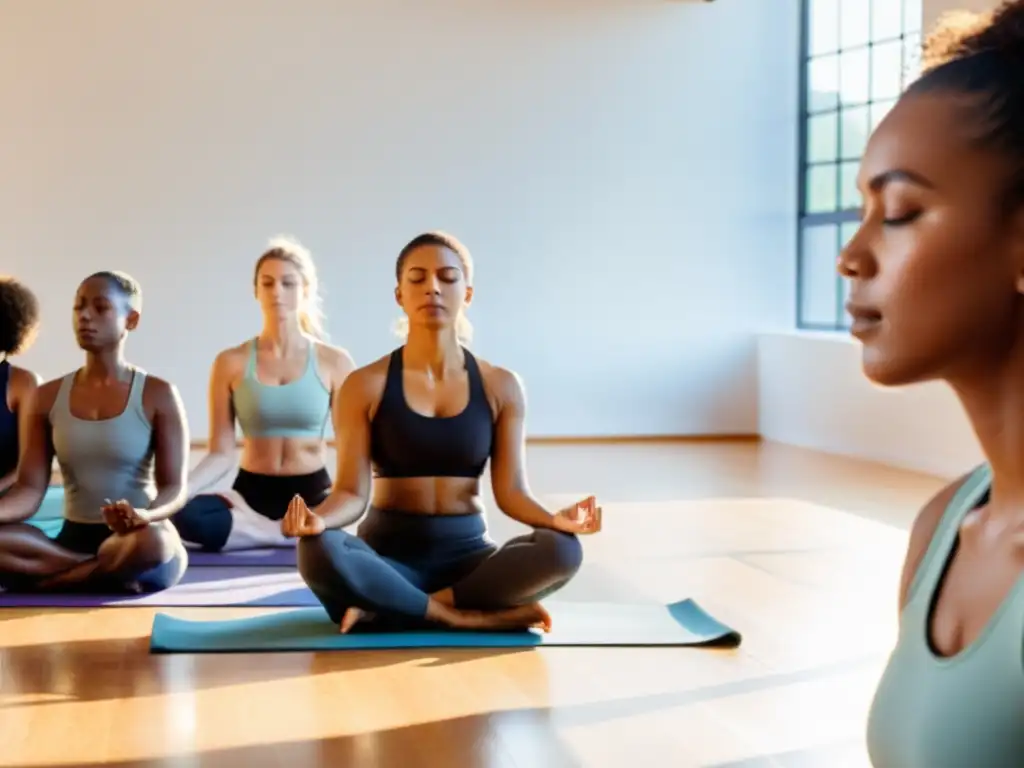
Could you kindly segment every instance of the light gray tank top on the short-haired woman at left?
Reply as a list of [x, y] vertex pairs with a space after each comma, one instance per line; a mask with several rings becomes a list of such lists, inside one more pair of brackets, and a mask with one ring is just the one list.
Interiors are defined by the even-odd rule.
[[125, 410], [113, 419], [79, 419], [70, 395], [75, 374], [60, 382], [50, 409], [53, 450], [65, 481], [65, 518], [101, 523], [105, 500], [145, 509], [157, 498], [153, 425], [142, 410], [145, 373], [135, 370]]

